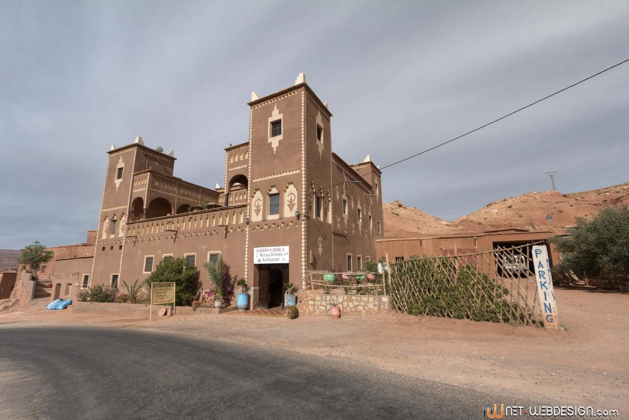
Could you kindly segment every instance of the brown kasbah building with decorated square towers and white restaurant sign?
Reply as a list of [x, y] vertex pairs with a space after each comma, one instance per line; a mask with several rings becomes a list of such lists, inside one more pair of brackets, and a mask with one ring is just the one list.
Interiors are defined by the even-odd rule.
[[332, 114], [304, 74], [248, 105], [248, 140], [225, 149], [225, 188], [177, 178], [174, 152], [140, 137], [112, 145], [93, 258], [57, 259], [53, 298], [72, 285], [142, 282], [169, 257], [187, 258], [208, 288], [203, 262], [220, 255], [252, 286], [251, 309], [265, 308], [311, 271], [360, 271], [376, 259], [381, 172], [369, 156], [347, 164], [332, 151]]

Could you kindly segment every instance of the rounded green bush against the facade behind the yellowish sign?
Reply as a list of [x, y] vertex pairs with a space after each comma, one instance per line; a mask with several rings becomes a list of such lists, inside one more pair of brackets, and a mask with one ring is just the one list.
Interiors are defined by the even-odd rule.
[[151, 283], [174, 281], [175, 282], [175, 300], [179, 306], [192, 305], [192, 299], [199, 288], [199, 270], [195, 266], [188, 264], [186, 258], [164, 258], [157, 264], [153, 273], [151, 273], [145, 282], [148, 290]]

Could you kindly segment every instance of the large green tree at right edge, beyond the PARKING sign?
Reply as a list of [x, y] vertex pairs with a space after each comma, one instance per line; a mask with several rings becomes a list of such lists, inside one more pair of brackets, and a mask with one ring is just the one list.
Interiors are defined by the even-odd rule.
[[629, 210], [605, 207], [590, 217], [576, 217], [568, 236], [550, 239], [562, 254], [556, 274], [572, 272], [582, 280], [629, 274]]

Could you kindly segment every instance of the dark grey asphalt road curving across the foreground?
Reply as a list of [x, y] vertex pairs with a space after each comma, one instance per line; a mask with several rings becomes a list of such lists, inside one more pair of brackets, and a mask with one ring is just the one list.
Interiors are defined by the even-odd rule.
[[6, 419], [476, 419], [494, 402], [507, 401], [211, 338], [0, 327], [0, 417]]

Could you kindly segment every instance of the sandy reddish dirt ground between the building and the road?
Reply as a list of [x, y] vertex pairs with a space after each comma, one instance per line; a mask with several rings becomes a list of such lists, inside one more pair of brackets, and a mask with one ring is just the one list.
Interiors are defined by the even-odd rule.
[[540, 404], [618, 409], [623, 417], [629, 410], [629, 295], [555, 291], [566, 331], [401, 314], [292, 321], [177, 315], [149, 323], [148, 313], [147, 319], [73, 314], [45, 310], [43, 302], [1, 312], [0, 327], [89, 325], [191, 334], [365, 363]]

